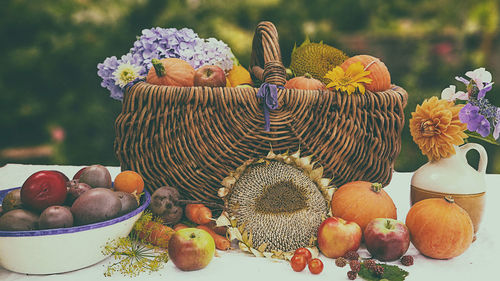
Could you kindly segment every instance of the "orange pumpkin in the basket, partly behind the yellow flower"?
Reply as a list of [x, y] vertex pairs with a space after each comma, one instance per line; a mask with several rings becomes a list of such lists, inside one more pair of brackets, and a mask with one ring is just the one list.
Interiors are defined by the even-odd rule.
[[370, 71], [366, 77], [371, 78], [372, 82], [365, 85], [365, 88], [372, 92], [385, 91], [391, 87], [391, 74], [385, 64], [378, 58], [369, 55], [357, 55], [348, 58], [341, 65], [344, 71], [349, 65], [360, 62], [365, 66], [365, 70]]

